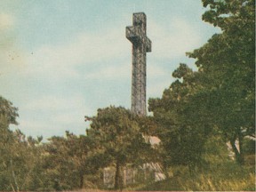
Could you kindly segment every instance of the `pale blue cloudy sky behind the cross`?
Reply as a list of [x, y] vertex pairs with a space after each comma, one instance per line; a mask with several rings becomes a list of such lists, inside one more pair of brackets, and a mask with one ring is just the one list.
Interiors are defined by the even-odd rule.
[[218, 28], [200, 0], [0, 0], [0, 95], [26, 135], [84, 134], [98, 108], [131, 108], [132, 13], [147, 14], [147, 99], [161, 97], [180, 63]]

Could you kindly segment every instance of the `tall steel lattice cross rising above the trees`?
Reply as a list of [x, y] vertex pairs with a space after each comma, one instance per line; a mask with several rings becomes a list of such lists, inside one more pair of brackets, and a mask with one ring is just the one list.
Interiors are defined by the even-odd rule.
[[132, 42], [132, 113], [147, 115], [146, 52], [151, 52], [144, 12], [133, 13], [132, 26], [126, 27], [126, 38]]

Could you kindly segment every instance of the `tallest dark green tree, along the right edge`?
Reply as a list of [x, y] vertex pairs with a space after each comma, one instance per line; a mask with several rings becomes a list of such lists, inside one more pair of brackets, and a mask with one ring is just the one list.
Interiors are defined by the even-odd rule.
[[[244, 163], [245, 135], [255, 137], [255, 1], [203, 0], [203, 20], [220, 27], [203, 47], [188, 53], [202, 71], [202, 86], [212, 107], [212, 123], [231, 142]], [[235, 141], [239, 140], [239, 148]]]

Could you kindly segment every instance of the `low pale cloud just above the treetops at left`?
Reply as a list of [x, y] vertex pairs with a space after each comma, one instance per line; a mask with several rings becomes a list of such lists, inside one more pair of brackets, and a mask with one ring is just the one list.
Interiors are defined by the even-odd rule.
[[20, 109], [19, 128], [26, 130], [28, 135], [44, 135], [44, 139], [63, 135], [67, 130], [76, 134], [84, 132], [88, 127], [84, 115], [92, 114], [92, 108], [85, 107], [84, 97], [79, 95], [42, 96], [30, 100]]

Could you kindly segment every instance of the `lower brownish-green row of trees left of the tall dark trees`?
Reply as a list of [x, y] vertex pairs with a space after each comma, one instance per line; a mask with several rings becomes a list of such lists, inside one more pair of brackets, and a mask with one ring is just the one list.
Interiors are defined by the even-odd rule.
[[[156, 148], [145, 140], [148, 117], [134, 116], [125, 108], [103, 108], [86, 117], [91, 127], [86, 135], [66, 132], [43, 143], [42, 137], [26, 137], [17, 124], [17, 108], [0, 97], [0, 190], [67, 190], [100, 188], [102, 169], [116, 167], [115, 188], [123, 188], [122, 167], [157, 161]], [[145, 126], [148, 124], [147, 126]]]

